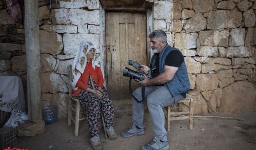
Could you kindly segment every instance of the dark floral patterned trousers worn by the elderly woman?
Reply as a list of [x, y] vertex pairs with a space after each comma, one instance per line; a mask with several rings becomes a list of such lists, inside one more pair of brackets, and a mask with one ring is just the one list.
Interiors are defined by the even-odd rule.
[[[95, 90], [98, 90], [96, 83], [93, 80]], [[88, 86], [92, 89], [90, 78], [88, 80]], [[98, 98], [92, 92], [82, 90], [77, 98], [80, 100], [80, 104], [86, 109], [87, 125], [90, 132], [90, 138], [97, 136], [100, 130], [100, 111], [104, 117], [106, 128], [114, 126], [114, 107], [112, 101], [108, 96], [108, 92], [103, 87], [103, 96]]]

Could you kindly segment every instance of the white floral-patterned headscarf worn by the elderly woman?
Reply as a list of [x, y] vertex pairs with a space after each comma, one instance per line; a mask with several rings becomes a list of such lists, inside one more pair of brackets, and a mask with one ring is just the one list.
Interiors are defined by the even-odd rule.
[[[76, 87], [76, 83], [80, 78], [81, 74], [84, 73], [84, 69], [86, 67], [86, 62], [87, 62], [86, 55], [88, 54], [89, 50], [92, 48], [95, 49], [95, 47], [91, 42], [83, 41], [80, 43], [80, 46], [76, 52], [76, 57], [72, 65], [72, 79], [71, 79], [71, 86], [74, 90], [78, 89], [78, 87]], [[99, 53], [97, 50], [94, 53], [94, 57], [92, 58], [92, 67], [95, 68], [95, 66], [100, 67]]]

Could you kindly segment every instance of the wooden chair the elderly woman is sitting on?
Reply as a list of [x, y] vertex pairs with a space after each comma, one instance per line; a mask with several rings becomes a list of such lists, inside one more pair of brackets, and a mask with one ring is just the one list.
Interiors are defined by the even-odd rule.
[[[68, 66], [68, 72], [69, 72], [69, 79], [71, 79], [72, 78], [72, 66]], [[72, 88], [71, 88], [70, 83], [68, 84], [68, 88], [69, 88], [68, 126], [71, 126], [71, 121], [74, 122], [74, 124], [75, 124], [74, 136], [78, 136], [79, 121], [85, 120], [86, 117], [80, 118], [80, 102], [77, 98], [74, 98], [73, 96], [71, 96]], [[72, 112], [75, 113], [74, 117], [72, 115]], [[106, 127], [105, 127], [105, 122], [104, 122], [102, 113], [100, 113], [100, 116], [101, 116], [104, 132], [105, 132], [105, 138], [107, 139], [108, 137], [106, 134]]]

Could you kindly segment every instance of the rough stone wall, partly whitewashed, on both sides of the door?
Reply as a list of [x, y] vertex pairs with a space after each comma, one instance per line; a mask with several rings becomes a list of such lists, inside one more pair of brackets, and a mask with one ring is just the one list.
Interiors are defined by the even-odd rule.
[[[66, 117], [66, 68], [83, 40], [103, 52], [104, 9], [98, 0], [38, 1], [42, 104], [58, 104]], [[255, 1], [154, 0], [154, 29], [185, 56], [195, 114], [256, 111]], [[0, 75], [20, 76], [26, 94], [25, 60], [24, 26], [0, 1]]]

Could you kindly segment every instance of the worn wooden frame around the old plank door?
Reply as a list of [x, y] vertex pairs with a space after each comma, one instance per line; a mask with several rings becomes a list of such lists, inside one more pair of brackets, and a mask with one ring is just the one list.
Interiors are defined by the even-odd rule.
[[[102, 8], [102, 7], [101, 7]], [[152, 13], [152, 7], [150, 8], [134, 8], [134, 7], [128, 7], [128, 8], [124, 8], [124, 7], [104, 7], [102, 9], [100, 9], [100, 18], [103, 18], [102, 21], [100, 22], [100, 26], [102, 26], [102, 32], [103, 34], [100, 35], [100, 43], [103, 43], [102, 47], [102, 52], [103, 52], [103, 65], [102, 67], [104, 68], [104, 72], [103, 76], [104, 76], [104, 85], [106, 88], [108, 88], [108, 74], [107, 74], [107, 54], [106, 54], [106, 50], [107, 50], [107, 46], [106, 46], [106, 28], [105, 28], [105, 12], [144, 12], [146, 13], [146, 17], [147, 17], [147, 22], [146, 22], [146, 54], [147, 54], [147, 65], [150, 64], [150, 59], [152, 57], [152, 52], [150, 51], [150, 41], [148, 40], [148, 35], [150, 34], [150, 32], [153, 31], [153, 13]]]

